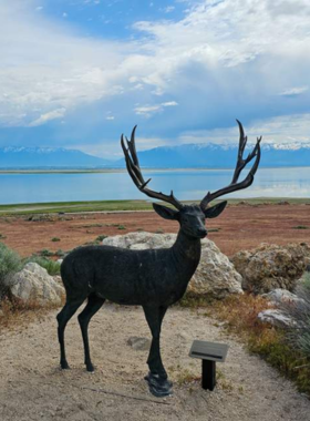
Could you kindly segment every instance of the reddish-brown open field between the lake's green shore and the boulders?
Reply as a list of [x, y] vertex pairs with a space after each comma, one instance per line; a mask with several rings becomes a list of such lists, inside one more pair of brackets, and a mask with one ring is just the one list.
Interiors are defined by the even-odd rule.
[[[29, 219], [31, 216], [0, 217], [0, 240], [22, 256], [42, 249], [70, 250], [93, 242], [100, 235], [111, 236], [141, 229], [174, 233], [178, 229], [177, 223], [165, 220], [155, 212], [34, 215], [32, 220]], [[260, 243], [307, 243], [310, 242], [310, 206], [228, 206], [218, 218], [207, 220], [207, 228], [211, 229], [208, 238], [228, 256]], [[52, 242], [52, 238], [60, 240]]]

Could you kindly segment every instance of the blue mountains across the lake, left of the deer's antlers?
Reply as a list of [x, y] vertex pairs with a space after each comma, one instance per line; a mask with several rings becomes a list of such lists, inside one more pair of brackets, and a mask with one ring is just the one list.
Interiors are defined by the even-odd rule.
[[107, 160], [63, 147], [0, 148], [0, 168], [93, 168], [110, 164]]

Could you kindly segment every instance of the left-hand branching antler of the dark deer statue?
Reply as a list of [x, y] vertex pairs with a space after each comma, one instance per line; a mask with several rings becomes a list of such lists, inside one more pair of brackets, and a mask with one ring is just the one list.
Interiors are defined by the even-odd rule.
[[146, 188], [147, 184], [151, 182], [151, 178], [145, 182], [140, 168], [138, 158], [136, 154], [136, 147], [135, 147], [135, 131], [136, 131], [136, 125], [134, 126], [132, 131], [131, 140], [128, 141], [126, 137], [126, 143], [128, 147], [125, 146], [123, 134], [121, 137], [121, 144], [122, 144], [122, 148], [125, 155], [126, 167], [130, 173], [130, 176], [132, 177], [132, 181], [137, 186], [137, 188], [142, 193], [146, 194], [147, 196], [153, 197], [153, 198], [158, 198], [159, 201], [163, 201], [163, 202], [167, 202], [172, 204], [173, 206], [175, 206], [177, 209], [180, 209], [183, 205], [174, 196], [173, 191], [169, 194], [169, 196], [167, 196], [161, 192], [157, 193], [157, 192], [153, 192], [149, 188]]

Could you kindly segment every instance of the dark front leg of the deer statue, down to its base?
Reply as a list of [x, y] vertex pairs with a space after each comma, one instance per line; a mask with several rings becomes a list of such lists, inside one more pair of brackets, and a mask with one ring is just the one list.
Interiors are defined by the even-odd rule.
[[146, 321], [152, 332], [152, 345], [147, 358], [149, 372], [145, 377], [149, 391], [155, 397], [166, 397], [172, 394], [173, 383], [168, 380], [161, 357], [161, 328], [167, 307], [143, 307]]

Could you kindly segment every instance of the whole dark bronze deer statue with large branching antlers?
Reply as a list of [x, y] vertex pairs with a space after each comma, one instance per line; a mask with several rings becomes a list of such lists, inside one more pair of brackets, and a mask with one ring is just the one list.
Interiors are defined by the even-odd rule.
[[[238, 122], [238, 121], [237, 121]], [[126, 145], [122, 135], [121, 144], [124, 151], [127, 171], [137, 188], [147, 196], [173, 205], [165, 207], [153, 204], [154, 210], [166, 219], [179, 223], [179, 232], [170, 248], [130, 250], [111, 246], [84, 246], [71, 251], [61, 265], [61, 276], [66, 291], [66, 302], [58, 315], [58, 333], [61, 349], [61, 368], [69, 364], [64, 350], [64, 329], [78, 308], [87, 298], [87, 305], [79, 315], [79, 322], [84, 342], [85, 364], [87, 371], [93, 371], [90, 357], [87, 327], [91, 318], [102, 307], [104, 301], [127, 306], [142, 306], [146, 321], [152, 332], [152, 346], [147, 359], [149, 368], [145, 380], [151, 392], [156, 397], [172, 393], [172, 382], [161, 358], [159, 336], [163, 318], [169, 306], [178, 301], [186, 291], [200, 259], [200, 238], [207, 235], [206, 218], [215, 218], [227, 205], [221, 202], [211, 207], [208, 204], [219, 196], [250, 186], [260, 160], [260, 141], [249, 155], [244, 158], [247, 137], [238, 122], [240, 140], [236, 170], [231, 183], [217, 192], [208, 193], [199, 205], [183, 205], [174, 196], [154, 192], [147, 188], [135, 148], [134, 127], [131, 141]], [[254, 161], [251, 170], [242, 182], [239, 175], [245, 166]]]

